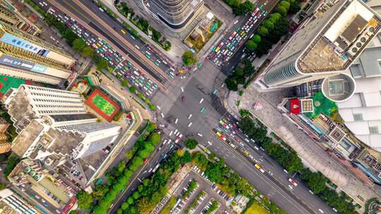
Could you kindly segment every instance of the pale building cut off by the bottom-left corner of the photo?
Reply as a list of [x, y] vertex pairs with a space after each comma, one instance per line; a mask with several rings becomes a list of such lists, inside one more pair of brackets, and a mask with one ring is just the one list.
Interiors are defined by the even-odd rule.
[[11, 189], [0, 190], [0, 213], [2, 214], [40, 214], [29, 203], [21, 199]]

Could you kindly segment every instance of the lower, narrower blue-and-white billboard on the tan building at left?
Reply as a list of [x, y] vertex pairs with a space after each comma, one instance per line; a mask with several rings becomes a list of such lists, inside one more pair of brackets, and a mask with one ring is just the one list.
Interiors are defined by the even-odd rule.
[[45, 73], [47, 67], [44, 65], [38, 65], [30, 61], [25, 61], [13, 56], [2, 55], [0, 56], [0, 64], [8, 65], [14, 68], [20, 68], [23, 70], [30, 70], [37, 73]]

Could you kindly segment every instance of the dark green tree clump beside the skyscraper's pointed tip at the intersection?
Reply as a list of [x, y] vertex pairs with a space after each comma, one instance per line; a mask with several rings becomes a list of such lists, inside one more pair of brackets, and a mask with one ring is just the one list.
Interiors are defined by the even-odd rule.
[[226, 77], [226, 87], [231, 91], [238, 91], [239, 84], [246, 84], [247, 79], [256, 72], [251, 62], [245, 58], [239, 63], [236, 70]]

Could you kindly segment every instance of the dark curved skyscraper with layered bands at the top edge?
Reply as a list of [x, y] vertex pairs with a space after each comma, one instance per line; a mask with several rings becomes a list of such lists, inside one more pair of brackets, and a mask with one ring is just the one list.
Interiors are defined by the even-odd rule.
[[171, 30], [180, 31], [197, 15], [203, 0], [150, 0], [148, 6]]

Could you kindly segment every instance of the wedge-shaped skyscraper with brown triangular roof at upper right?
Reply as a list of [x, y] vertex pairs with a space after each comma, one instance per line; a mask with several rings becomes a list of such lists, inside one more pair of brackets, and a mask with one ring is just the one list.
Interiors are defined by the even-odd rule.
[[[262, 88], [291, 87], [337, 75], [356, 60], [380, 24], [380, 16], [361, 0], [327, 1], [296, 30], [256, 82]], [[328, 87], [344, 90], [339, 81], [345, 82], [329, 80]]]

